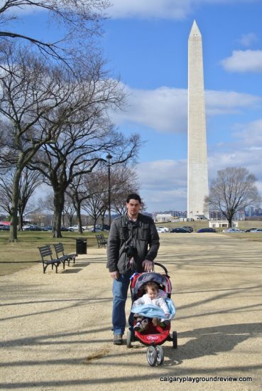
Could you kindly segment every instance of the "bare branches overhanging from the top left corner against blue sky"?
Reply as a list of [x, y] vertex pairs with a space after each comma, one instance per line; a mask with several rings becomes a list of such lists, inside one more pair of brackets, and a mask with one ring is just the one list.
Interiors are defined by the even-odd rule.
[[[77, 59], [84, 64], [87, 53], [94, 47], [92, 37], [99, 35], [101, 21], [109, 5], [107, 0], [3, 0], [0, 5], [0, 26], [4, 26], [4, 31], [0, 31], [0, 38], [2, 41], [12, 39], [31, 43], [45, 58], [51, 56], [55, 60], [62, 60], [73, 70], [72, 60]], [[58, 38], [48, 42], [36, 34], [26, 36], [12, 31], [13, 21], [22, 18], [23, 10], [42, 12], [48, 16], [48, 23], [59, 32]], [[58, 29], [58, 26], [61, 28]]]

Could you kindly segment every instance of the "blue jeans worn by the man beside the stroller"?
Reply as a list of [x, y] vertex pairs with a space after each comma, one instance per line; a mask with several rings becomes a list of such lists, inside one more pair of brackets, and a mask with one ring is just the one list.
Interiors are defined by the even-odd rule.
[[[124, 334], [126, 328], [126, 298], [129, 290], [130, 277], [133, 272], [130, 270], [126, 274], [119, 274], [118, 279], [114, 279], [113, 282], [113, 311], [112, 311], [112, 331], [114, 334]], [[129, 324], [131, 322], [131, 316], [129, 317]]]

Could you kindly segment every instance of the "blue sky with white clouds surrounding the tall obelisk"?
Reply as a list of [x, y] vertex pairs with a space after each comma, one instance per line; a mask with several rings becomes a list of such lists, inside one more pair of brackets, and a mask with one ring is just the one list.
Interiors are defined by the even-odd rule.
[[[187, 204], [187, 41], [202, 33], [209, 180], [244, 166], [262, 192], [262, 1], [112, 0], [101, 39], [127, 97], [114, 122], [146, 143], [137, 171], [148, 212]], [[38, 14], [27, 22], [41, 26]], [[28, 25], [27, 25], [28, 26]], [[45, 28], [45, 26], [43, 26]], [[36, 30], [35, 30], [36, 31]]]

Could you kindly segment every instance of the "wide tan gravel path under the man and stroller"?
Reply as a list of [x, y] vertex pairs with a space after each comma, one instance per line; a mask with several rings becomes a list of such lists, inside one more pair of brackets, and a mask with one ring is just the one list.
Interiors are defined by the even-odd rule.
[[140, 343], [111, 343], [104, 249], [58, 274], [38, 264], [0, 277], [0, 389], [261, 390], [261, 244], [162, 234], [157, 260], [173, 283], [178, 350], [166, 342], [165, 362], [154, 368]]

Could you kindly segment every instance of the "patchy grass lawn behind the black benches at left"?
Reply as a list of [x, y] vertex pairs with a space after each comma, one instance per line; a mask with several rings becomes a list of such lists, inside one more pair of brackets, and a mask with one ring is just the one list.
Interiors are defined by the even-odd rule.
[[[107, 236], [107, 234], [105, 234]], [[62, 232], [61, 239], [54, 239], [50, 232], [18, 232], [18, 242], [9, 242], [9, 232], [0, 231], [0, 275], [11, 274], [32, 264], [40, 263], [38, 247], [62, 242], [65, 252], [75, 252], [76, 239], [87, 238], [88, 247], [97, 247], [95, 233]], [[55, 257], [55, 255], [54, 255]]]

